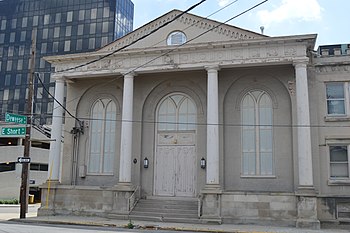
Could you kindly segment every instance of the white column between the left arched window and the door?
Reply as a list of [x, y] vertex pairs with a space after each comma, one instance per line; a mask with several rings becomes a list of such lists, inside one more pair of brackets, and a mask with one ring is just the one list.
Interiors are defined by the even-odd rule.
[[134, 74], [124, 76], [119, 183], [131, 184]]

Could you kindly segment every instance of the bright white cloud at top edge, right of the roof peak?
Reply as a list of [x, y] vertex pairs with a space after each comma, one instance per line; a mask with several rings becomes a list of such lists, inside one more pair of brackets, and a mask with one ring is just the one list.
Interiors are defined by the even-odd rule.
[[262, 25], [280, 23], [287, 20], [316, 21], [321, 19], [322, 8], [317, 0], [282, 0], [274, 10], [258, 12]]

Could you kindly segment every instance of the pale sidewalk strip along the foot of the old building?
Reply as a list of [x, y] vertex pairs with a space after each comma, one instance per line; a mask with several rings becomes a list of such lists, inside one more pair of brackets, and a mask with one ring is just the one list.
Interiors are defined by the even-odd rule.
[[[108, 226], [116, 228], [125, 228], [128, 220], [106, 219], [100, 217], [81, 217], [81, 216], [45, 216], [28, 217], [26, 219], [11, 219], [10, 221], [26, 223], [45, 223], [45, 224], [68, 224], [68, 225], [88, 225], [88, 226]], [[346, 233], [348, 230], [340, 229], [321, 229], [307, 230], [294, 227], [273, 227], [256, 225], [207, 225], [207, 224], [185, 224], [185, 223], [167, 223], [167, 222], [147, 222], [132, 221], [136, 228], [153, 230], [178, 230], [194, 232], [219, 232], [219, 233]]]

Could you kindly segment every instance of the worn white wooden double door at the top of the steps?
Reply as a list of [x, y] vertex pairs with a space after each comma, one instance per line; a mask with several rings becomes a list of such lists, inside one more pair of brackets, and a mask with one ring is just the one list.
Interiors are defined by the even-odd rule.
[[196, 145], [194, 133], [158, 135], [155, 188], [158, 196], [193, 197], [196, 190]]

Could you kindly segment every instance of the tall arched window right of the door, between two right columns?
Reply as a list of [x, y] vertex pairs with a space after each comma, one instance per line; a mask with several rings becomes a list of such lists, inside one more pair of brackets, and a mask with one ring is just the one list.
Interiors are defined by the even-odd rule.
[[260, 90], [242, 100], [242, 175], [273, 175], [272, 101]]

